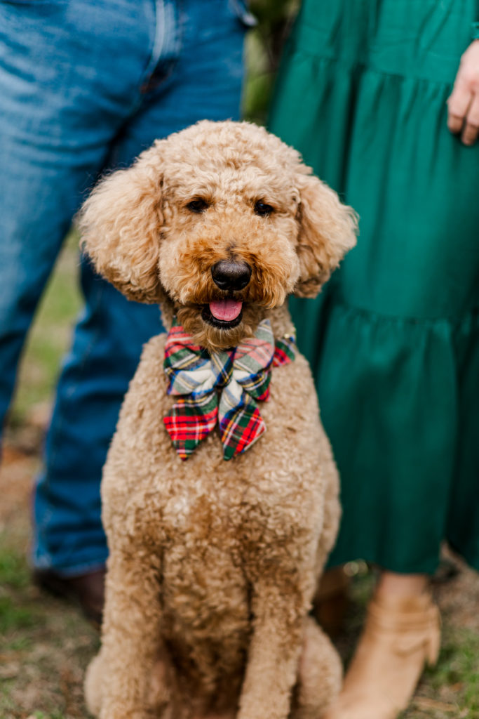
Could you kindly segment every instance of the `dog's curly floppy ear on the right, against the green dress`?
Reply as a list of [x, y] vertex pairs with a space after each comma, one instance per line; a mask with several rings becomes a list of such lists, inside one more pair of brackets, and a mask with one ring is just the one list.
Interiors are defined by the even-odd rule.
[[358, 218], [352, 208], [340, 202], [335, 191], [314, 175], [299, 174], [297, 189], [299, 279], [294, 294], [315, 297], [346, 252], [354, 247]]

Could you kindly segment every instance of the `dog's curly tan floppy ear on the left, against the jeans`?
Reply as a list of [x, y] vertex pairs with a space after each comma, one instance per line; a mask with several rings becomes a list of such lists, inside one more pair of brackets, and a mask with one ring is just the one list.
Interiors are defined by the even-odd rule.
[[157, 303], [163, 296], [161, 145], [143, 152], [128, 170], [103, 178], [78, 215], [81, 244], [97, 272], [137, 302]]

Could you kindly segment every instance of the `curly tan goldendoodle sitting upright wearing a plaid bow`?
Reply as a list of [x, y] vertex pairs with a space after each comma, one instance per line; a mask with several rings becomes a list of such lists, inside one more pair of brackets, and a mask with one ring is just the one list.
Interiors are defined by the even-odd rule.
[[340, 662], [309, 616], [340, 516], [291, 294], [355, 244], [353, 211], [261, 127], [200, 122], [103, 179], [96, 269], [159, 303], [103, 475], [110, 558], [86, 695], [101, 719], [318, 719]]

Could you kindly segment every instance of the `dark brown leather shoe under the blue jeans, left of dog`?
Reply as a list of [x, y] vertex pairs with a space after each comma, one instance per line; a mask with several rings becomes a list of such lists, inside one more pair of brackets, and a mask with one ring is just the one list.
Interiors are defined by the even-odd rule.
[[55, 597], [62, 597], [80, 605], [85, 617], [96, 628], [101, 627], [105, 600], [105, 569], [80, 574], [78, 577], [62, 577], [52, 569], [34, 569], [32, 580], [37, 587]]

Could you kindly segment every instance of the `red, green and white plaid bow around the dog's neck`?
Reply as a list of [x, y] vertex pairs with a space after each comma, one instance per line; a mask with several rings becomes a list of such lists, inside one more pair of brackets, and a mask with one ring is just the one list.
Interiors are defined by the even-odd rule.
[[180, 324], [173, 324], [164, 347], [168, 394], [180, 395], [164, 425], [181, 459], [218, 423], [223, 459], [241, 454], [266, 431], [257, 402], [269, 398], [271, 367], [294, 359], [294, 336], [274, 342], [268, 319], [238, 347], [210, 354], [192, 344]]

